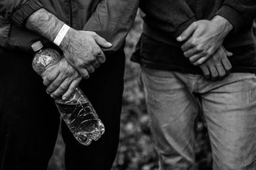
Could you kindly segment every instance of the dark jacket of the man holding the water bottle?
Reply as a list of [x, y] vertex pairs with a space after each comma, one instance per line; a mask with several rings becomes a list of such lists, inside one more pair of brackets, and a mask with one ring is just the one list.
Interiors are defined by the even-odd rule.
[[40, 8], [76, 30], [94, 31], [113, 43], [114, 52], [121, 48], [133, 24], [138, 0], [1, 0], [0, 48], [32, 51], [30, 46], [42, 40], [52, 43], [24, 28], [26, 19]]

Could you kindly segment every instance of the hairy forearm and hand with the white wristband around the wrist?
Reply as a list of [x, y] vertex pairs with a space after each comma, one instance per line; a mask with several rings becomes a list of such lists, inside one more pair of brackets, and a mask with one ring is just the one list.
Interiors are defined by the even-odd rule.
[[[55, 15], [40, 9], [27, 18], [26, 28], [54, 42], [55, 37], [64, 25]], [[94, 32], [68, 30], [60, 48], [67, 61], [76, 68], [84, 78], [89, 77], [99, 64], [105, 62], [102, 48], [112, 45]]]

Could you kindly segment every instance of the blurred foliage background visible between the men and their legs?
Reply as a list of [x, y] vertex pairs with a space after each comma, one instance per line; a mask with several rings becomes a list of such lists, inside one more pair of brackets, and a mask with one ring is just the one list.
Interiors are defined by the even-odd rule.
[[[254, 24], [256, 28], [256, 23]], [[130, 61], [142, 32], [142, 19], [137, 15], [126, 40], [126, 72], [124, 76], [123, 111], [121, 114], [120, 145], [112, 170], [154, 170], [158, 168], [157, 153], [151, 138], [149, 117], [146, 113], [143, 87], [139, 80], [140, 68]], [[255, 32], [256, 35], [256, 32]], [[196, 166], [211, 170], [211, 147], [204, 118], [199, 115], [196, 131]], [[65, 170], [64, 143], [58, 136], [48, 170]]]

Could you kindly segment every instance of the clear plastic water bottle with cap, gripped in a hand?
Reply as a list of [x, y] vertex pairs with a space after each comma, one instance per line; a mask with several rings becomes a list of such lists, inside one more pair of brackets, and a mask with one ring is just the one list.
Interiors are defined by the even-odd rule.
[[[40, 41], [33, 43], [32, 49], [36, 52], [32, 67], [44, 78], [62, 57], [54, 49], [43, 49]], [[96, 141], [104, 134], [104, 125], [79, 87], [69, 99], [55, 99], [55, 104], [71, 133], [80, 143], [88, 146], [92, 140]]]

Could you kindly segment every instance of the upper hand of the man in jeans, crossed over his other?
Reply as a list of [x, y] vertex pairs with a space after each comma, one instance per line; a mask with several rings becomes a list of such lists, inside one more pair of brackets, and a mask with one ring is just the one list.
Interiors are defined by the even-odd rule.
[[186, 41], [182, 45], [184, 55], [194, 65], [200, 65], [213, 56], [232, 29], [232, 24], [226, 18], [216, 15], [213, 20], [192, 23], [177, 40]]

